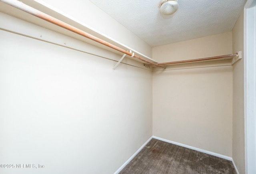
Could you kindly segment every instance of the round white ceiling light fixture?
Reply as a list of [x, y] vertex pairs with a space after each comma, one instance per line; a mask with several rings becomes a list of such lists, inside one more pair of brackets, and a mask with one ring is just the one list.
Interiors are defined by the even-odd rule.
[[179, 8], [177, 0], [164, 0], [160, 6], [160, 12], [164, 15], [174, 14]]

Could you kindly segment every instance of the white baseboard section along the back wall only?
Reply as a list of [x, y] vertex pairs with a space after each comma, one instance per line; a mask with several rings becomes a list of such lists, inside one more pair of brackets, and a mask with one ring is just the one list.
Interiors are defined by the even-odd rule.
[[161, 140], [161, 141], [165, 141], [165, 142], [170, 142], [170, 143], [176, 144], [176, 145], [178, 145], [178, 146], [190, 148], [190, 149], [192, 149], [192, 150], [196, 150], [196, 151], [199, 151], [199, 152], [203, 152], [203, 153], [206, 153], [206, 154], [210, 154], [210, 155], [213, 155], [213, 156], [217, 156], [217, 157], [224, 158], [224, 159], [226, 159], [226, 160], [232, 161], [232, 158], [229, 157], [229, 156], [225, 156], [225, 155], [218, 154], [218, 153], [215, 153], [215, 152], [210, 152], [210, 151], [208, 151], [208, 150], [196, 148], [196, 147], [189, 146], [189, 145], [186, 145], [186, 144], [182, 144], [182, 143], [179, 143], [179, 142], [175, 142], [175, 141], [171, 141], [171, 140], [166, 140], [166, 139], [164, 139], [164, 138], [159, 138], [159, 137], [157, 137], [157, 136], [152, 136], [152, 138], [155, 138], [155, 139], [158, 139], [158, 140]]

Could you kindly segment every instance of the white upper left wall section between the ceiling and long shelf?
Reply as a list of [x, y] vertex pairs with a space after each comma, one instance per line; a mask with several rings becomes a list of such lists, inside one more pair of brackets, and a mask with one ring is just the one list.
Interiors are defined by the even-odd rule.
[[[36, 0], [79, 20], [114, 40], [152, 57], [152, 48], [89, 0]], [[132, 24], [134, 25], [134, 24]]]

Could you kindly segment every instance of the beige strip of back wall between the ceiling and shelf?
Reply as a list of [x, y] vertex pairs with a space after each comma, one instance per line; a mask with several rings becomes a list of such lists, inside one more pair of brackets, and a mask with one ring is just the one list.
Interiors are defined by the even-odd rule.
[[198, 59], [231, 54], [232, 32], [153, 47], [152, 50], [153, 59], [158, 62]]

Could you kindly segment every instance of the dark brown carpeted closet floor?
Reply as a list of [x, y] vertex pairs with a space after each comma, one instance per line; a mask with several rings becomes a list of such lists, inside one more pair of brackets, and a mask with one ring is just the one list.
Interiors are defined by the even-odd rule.
[[152, 139], [119, 174], [236, 174], [231, 161]]

